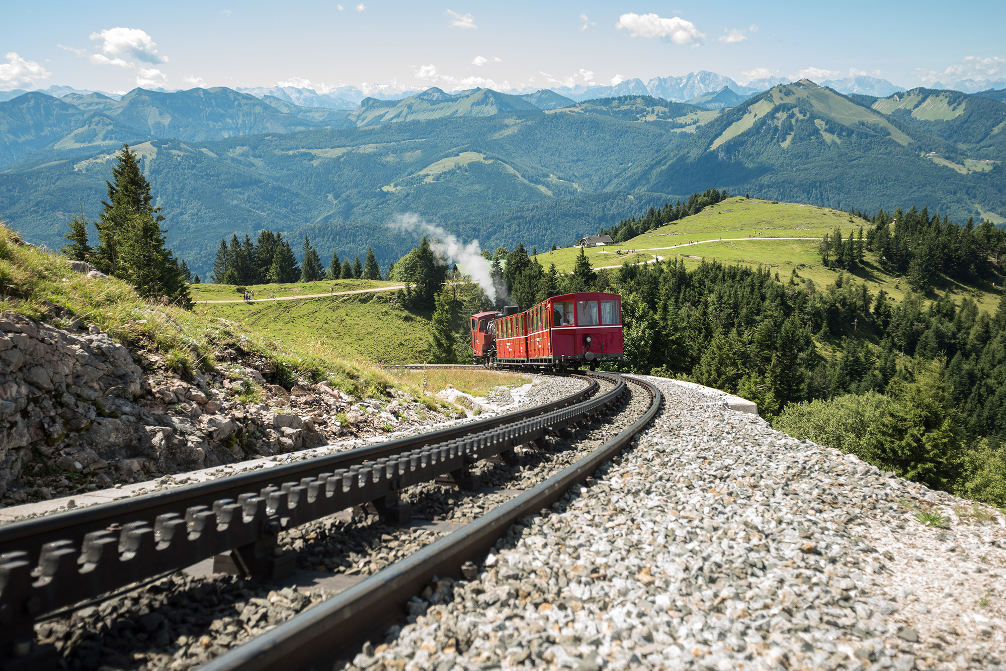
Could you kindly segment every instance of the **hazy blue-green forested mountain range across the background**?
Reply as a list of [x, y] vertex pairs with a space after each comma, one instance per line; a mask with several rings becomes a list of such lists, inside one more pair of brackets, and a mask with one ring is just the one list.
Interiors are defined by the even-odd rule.
[[97, 217], [129, 142], [200, 274], [232, 233], [306, 233], [323, 255], [372, 245], [387, 260], [414, 240], [386, 223], [413, 212], [488, 247], [568, 244], [709, 187], [1006, 220], [1006, 103], [993, 95], [801, 80], [691, 99], [430, 88], [346, 111], [228, 88], [31, 92], [0, 102], [0, 219], [58, 246], [79, 205]]

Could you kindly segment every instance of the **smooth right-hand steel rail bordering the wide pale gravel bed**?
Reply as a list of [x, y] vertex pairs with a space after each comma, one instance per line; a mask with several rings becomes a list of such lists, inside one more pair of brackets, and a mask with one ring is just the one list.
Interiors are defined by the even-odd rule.
[[210, 660], [200, 671], [288, 671], [330, 668], [339, 652], [358, 646], [435, 577], [460, 575], [465, 562], [480, 561], [517, 518], [551, 505], [616, 456], [660, 409], [662, 395], [645, 380], [626, 378], [651, 396], [646, 414], [618, 436], [541, 484], [494, 508], [471, 524], [295, 616], [244, 645]]

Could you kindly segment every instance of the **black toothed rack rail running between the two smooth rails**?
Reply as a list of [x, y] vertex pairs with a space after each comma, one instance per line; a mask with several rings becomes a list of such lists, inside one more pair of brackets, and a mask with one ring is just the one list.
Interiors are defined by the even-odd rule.
[[[53, 657], [31, 643], [37, 616], [146, 578], [236, 548], [243, 550], [236, 555], [238, 568], [247, 573], [277, 576], [284, 572], [278, 565], [292, 572], [296, 553], [273, 552], [281, 529], [368, 503], [393, 512], [397, 492], [405, 487], [445, 474], [462, 481], [472, 463], [540, 440], [612, 403], [626, 385], [620, 378], [610, 379], [615, 389], [538, 417], [244, 492], [236, 500], [193, 506], [182, 502], [178, 509], [184, 512], [158, 514], [153, 523], [134, 515], [122, 520], [118, 533], [86, 533], [79, 549], [70, 540], [57, 539], [29, 551], [6, 551], [0, 554], [0, 669], [37, 669], [43, 664], [37, 655]], [[30, 545], [30, 538], [24, 545]]]

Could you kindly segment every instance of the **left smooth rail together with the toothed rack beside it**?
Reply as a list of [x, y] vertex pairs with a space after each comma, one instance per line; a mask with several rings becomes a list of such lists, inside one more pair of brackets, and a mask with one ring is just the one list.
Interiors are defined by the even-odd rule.
[[[285, 529], [352, 506], [407, 518], [399, 492], [583, 422], [626, 391], [616, 376], [537, 408], [265, 472], [180, 487], [0, 527], [0, 668], [44, 669], [57, 656], [33, 625], [57, 609], [215, 556], [216, 570], [263, 578], [293, 571]], [[600, 392], [598, 380], [606, 381]], [[229, 553], [225, 554], [227, 550]]]

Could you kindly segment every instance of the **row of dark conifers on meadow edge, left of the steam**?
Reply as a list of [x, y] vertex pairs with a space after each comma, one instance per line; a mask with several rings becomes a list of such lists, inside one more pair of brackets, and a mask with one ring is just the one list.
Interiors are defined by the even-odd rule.
[[352, 262], [348, 258], [340, 261], [338, 251], [326, 267], [305, 235], [301, 245], [301, 261], [298, 262], [290, 245], [279, 231], [262, 230], [256, 240], [244, 234], [243, 240], [237, 235], [220, 240], [213, 260], [212, 280], [217, 284], [244, 286], [248, 284], [314, 282], [335, 279], [383, 279], [372, 247], [367, 247], [366, 261], [360, 263], [359, 255]]

